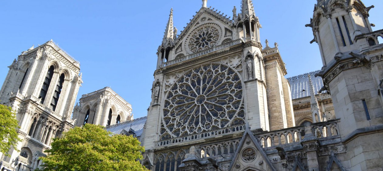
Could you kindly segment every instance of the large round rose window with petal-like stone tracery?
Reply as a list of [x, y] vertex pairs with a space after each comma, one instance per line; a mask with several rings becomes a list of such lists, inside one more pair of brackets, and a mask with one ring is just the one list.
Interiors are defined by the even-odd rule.
[[244, 123], [242, 82], [224, 64], [207, 64], [180, 76], [166, 94], [161, 140]]

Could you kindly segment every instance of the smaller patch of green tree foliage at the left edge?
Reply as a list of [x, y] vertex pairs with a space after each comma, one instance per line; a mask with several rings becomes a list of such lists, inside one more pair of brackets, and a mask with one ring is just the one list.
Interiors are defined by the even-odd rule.
[[11, 146], [21, 141], [17, 133], [19, 128], [16, 113], [10, 107], [0, 104], [0, 152], [9, 156]]

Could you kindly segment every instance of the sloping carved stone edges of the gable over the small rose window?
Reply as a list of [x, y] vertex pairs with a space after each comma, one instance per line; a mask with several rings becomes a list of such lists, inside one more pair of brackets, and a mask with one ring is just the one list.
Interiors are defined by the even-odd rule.
[[226, 18], [227, 15], [224, 16], [224, 13], [221, 14], [221, 11], [219, 12], [217, 11], [218, 10], [214, 11], [214, 8], [202, 7], [198, 12], [196, 12], [196, 15], [193, 16], [193, 19], [191, 19], [190, 23], [187, 23], [187, 26], [184, 27], [184, 30], [181, 31], [181, 34], [176, 39], [175, 44], [177, 44], [179, 41], [182, 41], [182, 39], [188, 35], [190, 30], [192, 30], [195, 24], [198, 23], [198, 19], [200, 18], [200, 16], [203, 15], [204, 13], [210, 15], [212, 19], [214, 18], [215, 20], [218, 20], [221, 23], [224, 23], [225, 25], [227, 25], [229, 28], [231, 28], [233, 22], [229, 18]]

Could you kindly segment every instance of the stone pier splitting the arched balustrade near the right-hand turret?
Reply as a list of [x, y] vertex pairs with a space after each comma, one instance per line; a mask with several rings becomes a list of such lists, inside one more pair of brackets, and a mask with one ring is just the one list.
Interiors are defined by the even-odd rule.
[[319, 171], [318, 148], [319, 141], [313, 134], [311, 123], [304, 124], [304, 138], [301, 142], [303, 150], [307, 154], [307, 166], [309, 171]]

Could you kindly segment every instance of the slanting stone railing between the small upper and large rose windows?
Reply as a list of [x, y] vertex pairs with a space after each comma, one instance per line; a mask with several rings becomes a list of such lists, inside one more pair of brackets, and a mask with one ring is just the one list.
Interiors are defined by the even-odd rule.
[[186, 61], [188, 59], [196, 58], [198, 56], [202, 56], [204, 54], [208, 54], [208, 53], [211, 53], [211, 52], [214, 52], [214, 51], [218, 51], [218, 50], [221, 50], [221, 49], [224, 49], [224, 48], [228, 48], [228, 47], [234, 46], [236, 44], [241, 44], [242, 42], [243, 42], [243, 39], [236, 39], [236, 40], [233, 40], [233, 41], [228, 42], [228, 43], [224, 43], [224, 44], [221, 44], [221, 45], [218, 45], [218, 46], [214, 46], [213, 48], [209, 48], [209, 49], [197, 52], [197, 53], [193, 53], [193, 54], [190, 54], [190, 55], [187, 55], [187, 56], [183, 56], [183, 57], [180, 57], [180, 58], [177, 58], [177, 59], [173, 59], [171, 61], [167, 61], [167, 62], [165, 62], [163, 64], [162, 67], [166, 67], [166, 66], [169, 66], [169, 65], [172, 65], [172, 64], [176, 64], [178, 62]]

